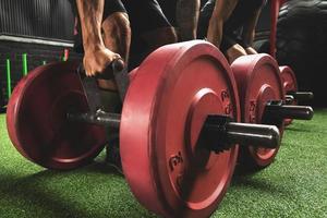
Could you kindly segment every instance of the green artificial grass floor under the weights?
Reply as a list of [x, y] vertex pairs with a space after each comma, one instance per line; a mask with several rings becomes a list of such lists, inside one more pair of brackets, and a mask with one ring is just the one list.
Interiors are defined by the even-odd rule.
[[[1, 114], [0, 217], [156, 217], [104, 158], [69, 172], [43, 169], [15, 150]], [[327, 217], [327, 109], [288, 128], [269, 168], [235, 175], [211, 217]]]

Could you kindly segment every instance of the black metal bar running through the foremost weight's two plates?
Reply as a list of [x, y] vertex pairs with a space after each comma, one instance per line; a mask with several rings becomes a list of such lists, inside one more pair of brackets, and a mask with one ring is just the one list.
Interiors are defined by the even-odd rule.
[[[68, 120], [119, 129], [121, 116], [98, 110], [96, 113], [68, 113]], [[275, 125], [230, 122], [229, 117], [208, 116], [198, 142], [210, 150], [225, 150], [234, 144], [276, 148], [280, 143], [279, 130]]]

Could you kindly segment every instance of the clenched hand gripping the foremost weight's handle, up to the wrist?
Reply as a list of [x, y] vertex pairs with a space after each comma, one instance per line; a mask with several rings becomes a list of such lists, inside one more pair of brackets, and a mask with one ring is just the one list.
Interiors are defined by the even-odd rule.
[[104, 73], [106, 68], [120, 56], [100, 46], [94, 49], [86, 49], [83, 63], [87, 76], [95, 76], [96, 74]]

